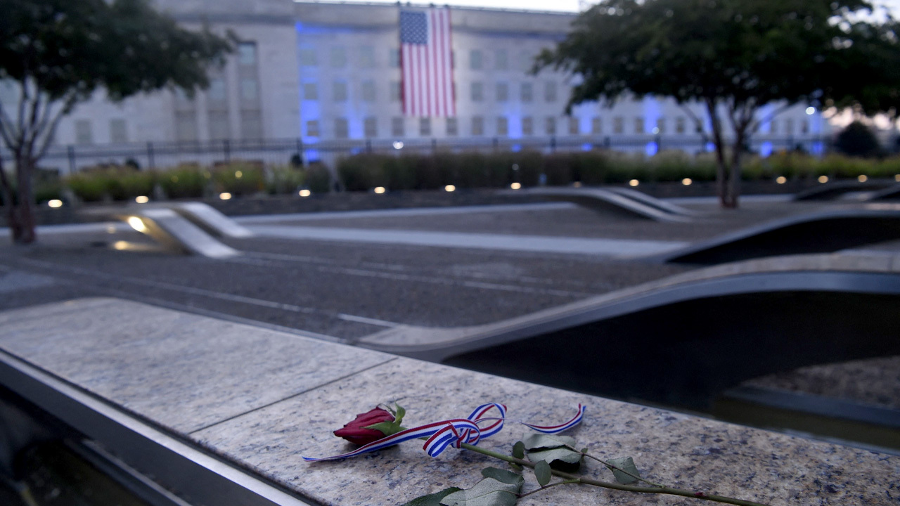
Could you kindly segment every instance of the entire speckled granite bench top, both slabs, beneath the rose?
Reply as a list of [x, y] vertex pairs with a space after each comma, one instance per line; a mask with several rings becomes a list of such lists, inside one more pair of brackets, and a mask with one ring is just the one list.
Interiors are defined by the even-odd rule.
[[[588, 405], [569, 431], [598, 456], [633, 456], [653, 481], [773, 505], [897, 504], [900, 457], [661, 411], [454, 367], [116, 299], [0, 313], [0, 348], [122, 410], [155, 421], [320, 504], [394, 505], [469, 487], [500, 461], [408, 442], [308, 464], [349, 449], [332, 436], [356, 413], [401, 400], [413, 425], [504, 402], [510, 420], [553, 423]], [[509, 422], [482, 446], [509, 453]], [[583, 469], [609, 479], [599, 465]], [[536, 488], [526, 473], [525, 490]], [[566, 485], [519, 504], [700, 504]]]

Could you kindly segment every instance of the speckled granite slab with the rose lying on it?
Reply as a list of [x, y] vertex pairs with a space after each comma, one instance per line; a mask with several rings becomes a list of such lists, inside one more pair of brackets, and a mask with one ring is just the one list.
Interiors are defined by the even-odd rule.
[[[471, 486], [480, 470], [500, 461], [449, 448], [429, 457], [418, 441], [370, 456], [305, 463], [352, 448], [331, 431], [379, 402], [401, 399], [410, 425], [465, 416], [482, 402], [505, 402], [509, 423], [482, 445], [508, 453], [525, 432], [512, 420], [552, 423], [589, 408], [569, 435], [601, 458], [633, 456], [648, 479], [691, 490], [788, 504], [895, 504], [900, 458], [850, 447], [698, 419], [623, 402], [568, 393], [406, 358], [326, 385], [192, 437], [278, 483], [324, 504], [401, 504], [447, 486]], [[611, 478], [600, 465], [590, 475]], [[536, 483], [526, 473], [525, 490]], [[892, 499], [893, 498], [893, 499]], [[542, 504], [690, 504], [589, 487], [557, 487], [520, 501]]]

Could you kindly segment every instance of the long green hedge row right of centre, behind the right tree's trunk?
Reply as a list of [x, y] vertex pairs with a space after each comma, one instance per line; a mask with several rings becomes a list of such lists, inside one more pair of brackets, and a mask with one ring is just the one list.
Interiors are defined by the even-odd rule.
[[[769, 158], [743, 160], [747, 180], [788, 178], [894, 177], [900, 174], [900, 157], [882, 160], [829, 155], [815, 158], [781, 152]], [[360, 154], [338, 161], [338, 176], [349, 191], [375, 186], [392, 190], [435, 190], [445, 185], [457, 188], [504, 187], [511, 183], [538, 185], [542, 175], [547, 185], [609, 185], [630, 179], [642, 182], [716, 179], [716, 158], [683, 151], [662, 151], [653, 157], [614, 151], [581, 151], [545, 155], [538, 151], [516, 153], [437, 153], [428, 155]]]

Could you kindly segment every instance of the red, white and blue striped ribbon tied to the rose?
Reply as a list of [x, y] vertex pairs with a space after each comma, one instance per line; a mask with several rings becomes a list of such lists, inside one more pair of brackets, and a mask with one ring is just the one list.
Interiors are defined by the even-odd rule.
[[[500, 411], [500, 416], [488, 417], [488, 412], [494, 409]], [[578, 423], [581, 422], [581, 419], [584, 417], [584, 410], [584, 406], [579, 404], [578, 414], [575, 415], [572, 420], [566, 421], [560, 425], [541, 426], [531, 425], [525, 422], [522, 423], [532, 429], [544, 432], [545, 434], [555, 434], [557, 432], [562, 432], [565, 429], [571, 429], [572, 427], [578, 425]], [[386, 447], [392, 447], [396, 444], [402, 443], [403, 441], [409, 441], [410, 439], [418, 438], [428, 438], [423, 449], [428, 453], [429, 456], [438, 456], [450, 445], [453, 445], [457, 448], [461, 447], [463, 443], [477, 445], [478, 442], [483, 438], [489, 438], [494, 434], [500, 432], [500, 430], [503, 429], [504, 421], [506, 421], [506, 406], [497, 402], [491, 402], [489, 404], [482, 404], [481, 406], [475, 408], [475, 410], [472, 411], [472, 414], [464, 419], [460, 418], [440, 420], [433, 423], [428, 423], [426, 425], [420, 425], [419, 427], [414, 427], [412, 429], [402, 430], [401, 432], [392, 434], [391, 436], [387, 436], [386, 438], [378, 439], [377, 441], [373, 441], [367, 445], [356, 448], [356, 450], [352, 452], [342, 455], [324, 456], [320, 458], [311, 458], [308, 456], [304, 456], [302, 458], [307, 462], [317, 462], [320, 460], [339, 460], [342, 458], [349, 458], [351, 456], [359, 456], [366, 453], [371, 453]], [[487, 422], [491, 423], [485, 427], [479, 426], [479, 423]]]

